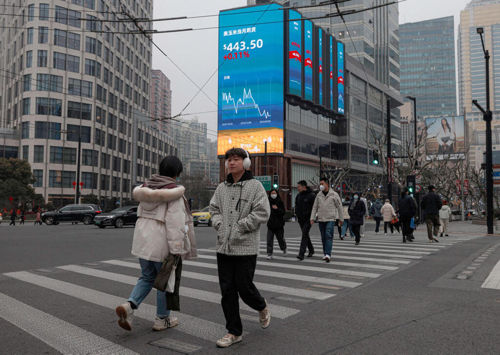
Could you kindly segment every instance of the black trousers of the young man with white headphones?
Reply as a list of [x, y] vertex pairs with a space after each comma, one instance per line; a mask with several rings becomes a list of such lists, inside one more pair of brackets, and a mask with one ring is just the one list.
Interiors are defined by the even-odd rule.
[[239, 317], [239, 297], [250, 308], [262, 310], [265, 300], [253, 284], [253, 274], [257, 265], [257, 255], [232, 256], [217, 253], [217, 271], [220, 292], [222, 293], [222, 310], [225, 317], [225, 328], [239, 336], [243, 325]]

